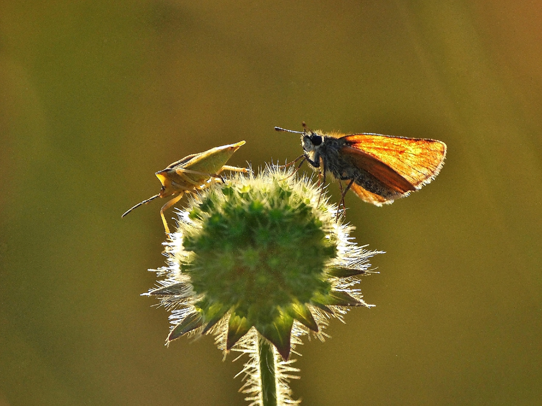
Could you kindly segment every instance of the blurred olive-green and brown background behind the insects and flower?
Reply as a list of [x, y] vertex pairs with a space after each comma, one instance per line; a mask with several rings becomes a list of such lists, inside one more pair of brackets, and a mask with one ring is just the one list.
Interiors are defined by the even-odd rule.
[[[248, 404], [211, 337], [169, 348], [154, 172], [278, 125], [430, 137], [433, 183], [349, 194], [376, 304], [299, 347], [306, 405], [542, 398], [539, 2], [0, 3], [0, 405]], [[308, 167], [304, 170], [312, 172]], [[338, 199], [336, 184], [330, 186]], [[167, 217], [171, 218], [173, 212]]]

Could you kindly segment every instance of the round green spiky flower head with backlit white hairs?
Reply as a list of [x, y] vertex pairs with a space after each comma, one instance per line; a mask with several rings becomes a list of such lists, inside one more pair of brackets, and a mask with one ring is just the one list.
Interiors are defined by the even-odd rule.
[[283, 359], [296, 336], [369, 307], [358, 289], [369, 252], [309, 179], [267, 168], [212, 184], [179, 212], [156, 295], [172, 310], [167, 343], [215, 332], [230, 350], [254, 328]]

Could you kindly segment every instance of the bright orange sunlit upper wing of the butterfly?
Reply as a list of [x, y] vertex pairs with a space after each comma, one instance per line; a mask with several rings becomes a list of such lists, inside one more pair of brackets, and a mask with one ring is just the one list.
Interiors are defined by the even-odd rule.
[[[370, 133], [352, 134], [341, 138], [346, 141], [346, 145], [362, 151], [391, 168], [416, 189], [420, 189], [438, 175], [446, 157], [446, 144], [433, 139], [392, 137]], [[382, 168], [380, 167], [379, 170], [385, 171]], [[378, 175], [375, 176], [378, 177]], [[396, 179], [391, 175], [390, 177]], [[397, 180], [397, 182], [406, 186], [401, 181]], [[401, 190], [401, 187], [398, 186], [397, 191]]]

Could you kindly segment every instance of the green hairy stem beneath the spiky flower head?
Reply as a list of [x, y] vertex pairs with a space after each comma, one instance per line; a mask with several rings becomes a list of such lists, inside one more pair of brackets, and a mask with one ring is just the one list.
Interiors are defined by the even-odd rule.
[[262, 406], [277, 406], [278, 379], [273, 345], [257, 333], [258, 367], [262, 388]]

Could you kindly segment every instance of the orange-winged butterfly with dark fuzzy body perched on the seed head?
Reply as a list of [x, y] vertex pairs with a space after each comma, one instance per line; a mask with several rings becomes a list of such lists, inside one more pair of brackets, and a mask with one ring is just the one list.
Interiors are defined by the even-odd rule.
[[[301, 163], [306, 160], [319, 169], [324, 184], [327, 173], [338, 179], [343, 208], [350, 189], [377, 206], [408, 196], [433, 181], [446, 157], [446, 144], [428, 138], [275, 130], [301, 134], [304, 154], [294, 162], [303, 158]], [[350, 181], [344, 191], [340, 181]]]

